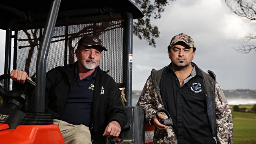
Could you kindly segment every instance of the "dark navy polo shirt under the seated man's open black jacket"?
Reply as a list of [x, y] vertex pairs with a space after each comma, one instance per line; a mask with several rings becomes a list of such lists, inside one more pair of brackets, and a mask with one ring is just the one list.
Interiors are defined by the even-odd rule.
[[56, 119], [74, 125], [83, 124], [89, 128], [91, 127], [91, 109], [96, 73], [97, 68], [91, 75], [80, 79], [78, 67], [76, 66], [69, 100], [65, 105], [63, 113]]

